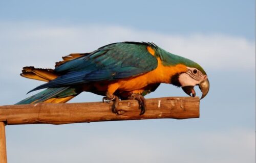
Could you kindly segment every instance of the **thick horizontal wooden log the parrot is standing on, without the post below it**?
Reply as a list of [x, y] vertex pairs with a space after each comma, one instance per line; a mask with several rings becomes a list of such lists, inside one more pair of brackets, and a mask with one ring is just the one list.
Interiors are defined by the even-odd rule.
[[199, 118], [199, 97], [146, 99], [147, 110], [139, 115], [138, 101], [119, 103], [119, 113], [111, 112], [112, 103], [37, 103], [0, 106], [0, 121], [13, 124], [67, 124], [80, 122], [141, 120], [158, 118]]

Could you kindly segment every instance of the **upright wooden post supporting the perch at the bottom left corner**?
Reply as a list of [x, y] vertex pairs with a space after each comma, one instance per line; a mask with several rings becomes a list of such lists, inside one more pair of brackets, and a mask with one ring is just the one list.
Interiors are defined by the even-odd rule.
[[4, 122], [0, 122], [0, 163], [7, 163]]

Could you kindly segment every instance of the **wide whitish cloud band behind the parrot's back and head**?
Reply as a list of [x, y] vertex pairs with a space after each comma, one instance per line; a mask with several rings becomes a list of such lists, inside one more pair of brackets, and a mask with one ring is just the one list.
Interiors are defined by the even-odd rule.
[[222, 34], [164, 35], [102, 24], [76, 27], [3, 23], [0, 29], [4, 59], [1, 65], [6, 66], [6, 60], [12, 61], [8, 64], [15, 63], [15, 70], [26, 65], [53, 67], [61, 56], [120, 41], [154, 42], [169, 52], [198, 62], [206, 70], [250, 69], [255, 63], [254, 42]]

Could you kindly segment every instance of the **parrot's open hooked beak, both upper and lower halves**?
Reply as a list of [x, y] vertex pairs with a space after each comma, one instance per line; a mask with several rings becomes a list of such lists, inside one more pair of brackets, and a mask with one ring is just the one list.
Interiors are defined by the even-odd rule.
[[[201, 83], [199, 83], [199, 88], [202, 92], [202, 97], [200, 99], [202, 99], [207, 95], [209, 91], [209, 88], [210, 88], [209, 80], [205, 79]], [[196, 97], [196, 91], [194, 90], [194, 86], [184, 86], [182, 87], [182, 90], [189, 96]]]

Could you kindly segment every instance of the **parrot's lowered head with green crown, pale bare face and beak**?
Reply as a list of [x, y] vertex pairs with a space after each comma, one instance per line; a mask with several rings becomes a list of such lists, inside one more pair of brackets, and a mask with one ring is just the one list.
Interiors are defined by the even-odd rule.
[[199, 86], [202, 92], [201, 99], [207, 95], [210, 88], [208, 76], [199, 64], [167, 52], [160, 47], [157, 50], [162, 64], [169, 67], [169, 70], [173, 72], [170, 73], [170, 84], [181, 87], [191, 97], [196, 96], [195, 86]]

